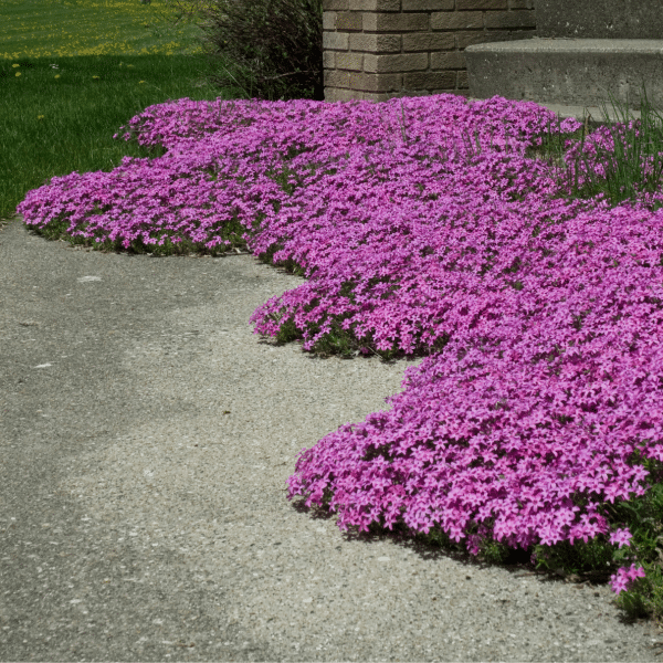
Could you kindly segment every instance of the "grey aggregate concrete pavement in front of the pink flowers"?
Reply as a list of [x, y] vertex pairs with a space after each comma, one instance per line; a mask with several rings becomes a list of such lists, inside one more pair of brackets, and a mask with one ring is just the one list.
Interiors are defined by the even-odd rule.
[[251, 313], [299, 282], [0, 232], [0, 659], [659, 660], [608, 587], [286, 499], [296, 453], [386, 408], [407, 366], [261, 341]]

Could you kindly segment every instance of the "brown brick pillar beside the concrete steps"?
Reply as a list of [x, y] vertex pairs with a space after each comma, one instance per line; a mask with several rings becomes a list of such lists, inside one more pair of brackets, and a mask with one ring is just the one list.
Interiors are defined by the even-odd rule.
[[470, 44], [534, 36], [533, 0], [324, 0], [325, 101], [467, 95]]

